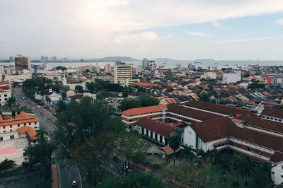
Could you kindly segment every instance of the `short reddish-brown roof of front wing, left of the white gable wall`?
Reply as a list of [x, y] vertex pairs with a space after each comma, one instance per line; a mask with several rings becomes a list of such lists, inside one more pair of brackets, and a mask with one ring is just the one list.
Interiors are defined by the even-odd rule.
[[172, 133], [178, 131], [178, 128], [175, 126], [164, 124], [149, 118], [139, 119], [139, 121], [137, 121], [135, 124], [137, 124], [139, 127], [144, 127], [145, 129], [161, 134], [166, 138], [170, 138]]

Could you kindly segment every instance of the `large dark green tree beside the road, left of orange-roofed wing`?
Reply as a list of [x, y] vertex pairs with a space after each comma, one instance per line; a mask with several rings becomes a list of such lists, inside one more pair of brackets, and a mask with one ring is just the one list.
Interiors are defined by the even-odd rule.
[[79, 102], [71, 100], [66, 106], [58, 114], [56, 136], [68, 148], [74, 148], [85, 139], [96, 136], [105, 130], [112, 119], [112, 111], [107, 103], [89, 97], [81, 98]]

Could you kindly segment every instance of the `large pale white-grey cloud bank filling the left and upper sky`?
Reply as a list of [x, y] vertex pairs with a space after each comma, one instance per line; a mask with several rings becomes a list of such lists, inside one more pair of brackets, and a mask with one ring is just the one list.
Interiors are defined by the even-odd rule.
[[[162, 30], [167, 26], [191, 23], [214, 23], [214, 26], [224, 28], [217, 20], [282, 11], [282, 0], [0, 1], [0, 36], [5, 36], [10, 44], [0, 43], [0, 52], [3, 56], [13, 55], [7, 52], [14, 49], [33, 57], [45, 53], [50, 56], [101, 57], [117, 43], [134, 48], [142, 43], [139, 38], [161, 43], [162, 39], [170, 37], [158, 36], [157, 32], [155, 35], [147, 32], [127, 34], [133, 31]], [[198, 32], [190, 35], [207, 36]], [[141, 56], [139, 52], [131, 53], [133, 57]]]

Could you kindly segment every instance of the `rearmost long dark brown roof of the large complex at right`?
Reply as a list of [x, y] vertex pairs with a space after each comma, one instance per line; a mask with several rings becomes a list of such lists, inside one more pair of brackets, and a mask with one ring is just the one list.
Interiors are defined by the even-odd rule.
[[248, 114], [250, 116], [256, 117], [255, 114], [253, 114], [253, 112], [250, 112], [249, 110], [244, 110], [241, 109], [239, 107], [229, 107], [226, 105], [215, 105], [212, 104], [210, 102], [203, 102], [203, 101], [190, 101], [190, 102], [186, 102], [185, 105], [189, 106], [189, 107], [195, 107], [195, 108], [199, 108], [202, 110], [208, 110], [208, 111], [212, 111], [212, 112], [217, 112], [220, 114]]

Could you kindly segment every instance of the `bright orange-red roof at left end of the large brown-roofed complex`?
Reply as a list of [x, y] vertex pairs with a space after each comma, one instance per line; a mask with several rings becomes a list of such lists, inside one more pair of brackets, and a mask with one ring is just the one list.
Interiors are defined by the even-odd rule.
[[155, 105], [149, 107], [136, 107], [129, 110], [121, 112], [121, 114], [126, 116], [137, 115], [137, 114], [146, 114], [151, 112], [161, 112], [163, 109], [166, 109], [167, 105]]

